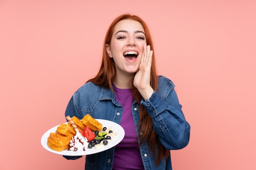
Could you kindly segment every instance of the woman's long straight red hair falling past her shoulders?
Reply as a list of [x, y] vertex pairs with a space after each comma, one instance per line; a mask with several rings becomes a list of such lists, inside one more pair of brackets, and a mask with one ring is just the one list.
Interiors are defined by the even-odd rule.
[[[112, 91], [113, 91], [112, 83], [116, 75], [116, 67], [115, 67], [115, 62], [113, 58], [110, 58], [108, 56], [105, 45], [111, 43], [111, 37], [113, 35], [115, 25], [121, 20], [135, 20], [141, 23], [145, 31], [147, 45], [150, 45], [151, 50], [154, 51], [153, 40], [150, 35], [148, 26], [140, 17], [138, 17], [137, 15], [130, 15], [130, 14], [123, 14], [117, 17], [110, 24], [110, 27], [108, 28], [108, 31], [106, 33], [104, 46], [103, 46], [102, 61], [101, 61], [99, 72], [94, 78], [87, 81], [87, 82], [91, 81], [92, 83], [101, 85], [102, 87], [105, 87], [105, 88], [110, 88]], [[158, 80], [157, 80], [157, 69], [156, 69], [154, 53], [153, 53], [152, 64], [151, 64], [150, 85], [155, 91], [157, 91]], [[149, 143], [152, 153], [155, 153], [154, 157], [155, 157], [156, 164], [158, 165], [163, 157], [167, 158], [169, 156], [170, 152], [161, 144], [161, 142], [159, 142], [157, 138], [157, 133], [155, 133], [155, 131], [153, 130], [152, 119], [150, 118], [146, 109], [140, 105], [142, 96], [141, 94], [139, 94], [138, 89], [133, 85], [133, 80], [130, 81], [130, 87], [132, 89], [135, 99], [138, 101], [138, 104], [139, 104], [139, 111], [140, 111], [139, 131], [140, 131], [140, 134], [142, 134], [138, 136], [140, 138], [139, 145], [146, 142]], [[157, 148], [157, 145], [158, 145], [158, 148]]]

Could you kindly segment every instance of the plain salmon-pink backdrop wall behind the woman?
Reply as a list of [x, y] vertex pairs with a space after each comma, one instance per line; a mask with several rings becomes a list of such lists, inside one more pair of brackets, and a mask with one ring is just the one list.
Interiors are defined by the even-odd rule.
[[0, 0], [1, 170], [71, 168], [40, 138], [99, 68], [106, 30], [141, 16], [174, 81], [191, 140], [174, 170], [256, 170], [255, 0]]

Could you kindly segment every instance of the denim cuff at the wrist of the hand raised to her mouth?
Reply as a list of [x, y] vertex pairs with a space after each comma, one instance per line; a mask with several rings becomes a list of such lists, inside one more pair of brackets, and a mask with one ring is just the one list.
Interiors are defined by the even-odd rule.
[[142, 98], [140, 104], [145, 107], [151, 118], [154, 118], [167, 107], [166, 102], [159, 96], [157, 92], [153, 92], [151, 97], [146, 101]]

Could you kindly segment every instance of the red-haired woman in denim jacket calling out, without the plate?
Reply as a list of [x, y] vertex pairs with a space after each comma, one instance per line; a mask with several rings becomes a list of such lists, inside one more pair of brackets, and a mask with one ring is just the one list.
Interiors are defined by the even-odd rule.
[[[87, 155], [86, 170], [171, 170], [170, 150], [189, 143], [175, 85], [157, 76], [153, 42], [146, 23], [124, 14], [110, 25], [98, 74], [72, 96], [65, 116], [120, 124], [124, 139], [115, 147]], [[77, 159], [79, 157], [67, 157]]]

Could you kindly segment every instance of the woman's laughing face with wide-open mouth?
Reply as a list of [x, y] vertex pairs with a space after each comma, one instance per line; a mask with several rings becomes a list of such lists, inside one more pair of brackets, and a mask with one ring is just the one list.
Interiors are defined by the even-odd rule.
[[144, 44], [146, 35], [139, 22], [121, 20], [116, 24], [106, 50], [115, 61], [117, 74], [134, 75], [139, 70]]

